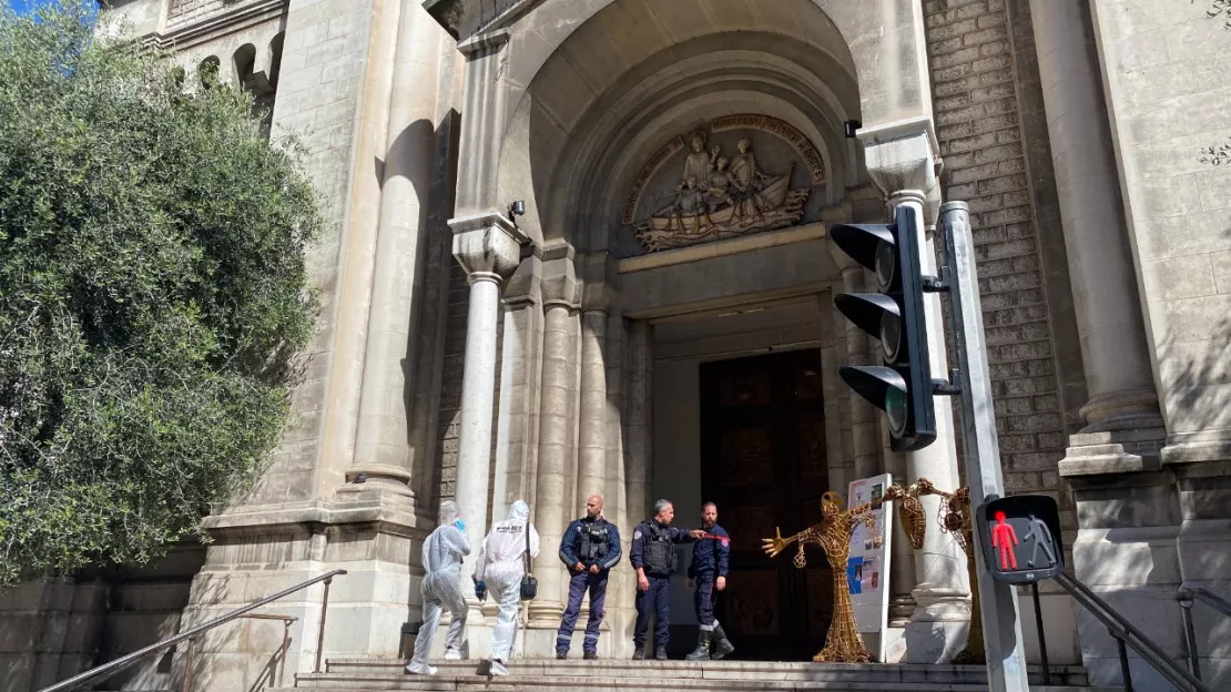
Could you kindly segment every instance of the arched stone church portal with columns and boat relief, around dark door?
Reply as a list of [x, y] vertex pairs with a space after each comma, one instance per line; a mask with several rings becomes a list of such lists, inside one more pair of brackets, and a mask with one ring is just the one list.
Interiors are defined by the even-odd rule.
[[[907, 147], [905, 165], [881, 154], [889, 177], [876, 183], [913, 188], [920, 204], [934, 192], [917, 15], [896, 0], [873, 11], [814, 0], [547, 0], [463, 37], [451, 227], [473, 288], [457, 495], [467, 516], [532, 500], [544, 557], [528, 654], [553, 648], [565, 580], [551, 557], [587, 495], [603, 494], [608, 518], [630, 534], [652, 496], [699, 491], [696, 474], [659, 478], [668, 462], [654, 428], [673, 425], [656, 415], [660, 325], [708, 320], [710, 341], [684, 358], [699, 364], [724, 360], [707, 348], [735, 336], [719, 325], [725, 314], [806, 303], [806, 324], [762, 325], [753, 351], [809, 350], [831, 382], [837, 358], [862, 357], [865, 342], [848, 353], [846, 336], [833, 335], [828, 296], [844, 277], [825, 228], [884, 218], [848, 122], [875, 122], [865, 131], [895, 142], [922, 138], [922, 155]], [[707, 176], [709, 185], [698, 180]], [[526, 213], [511, 220], [515, 201]], [[705, 219], [689, 225], [687, 215]], [[801, 341], [782, 336], [809, 329]], [[495, 369], [473, 374], [497, 360], [499, 403], [483, 394]], [[688, 406], [699, 410], [694, 394]], [[854, 473], [856, 453], [879, 436], [865, 425], [856, 443], [852, 420], [870, 415], [831, 394], [835, 414], [851, 409], [824, 422], [827, 463], [838, 467], [826, 481], [841, 488], [842, 467]], [[681, 502], [681, 521], [698, 507]], [[632, 585], [625, 563], [607, 601], [616, 635], [601, 654], [630, 649]], [[689, 610], [683, 596], [676, 613]]]

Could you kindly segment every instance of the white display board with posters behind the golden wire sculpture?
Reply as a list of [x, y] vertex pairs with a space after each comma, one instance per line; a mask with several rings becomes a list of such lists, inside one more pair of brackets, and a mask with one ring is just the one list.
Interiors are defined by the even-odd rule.
[[[851, 483], [847, 507], [853, 509], [880, 500], [892, 481], [892, 477], [885, 473]], [[884, 661], [883, 633], [889, 617], [889, 543], [892, 537], [889, 522], [892, 517], [892, 502], [885, 502], [870, 513], [876, 518], [876, 531], [856, 525], [851, 534], [847, 582], [851, 587], [851, 607], [854, 610], [856, 624], [859, 632], [878, 635], [879, 644], [869, 649], [876, 653], [878, 661]], [[878, 534], [884, 539], [879, 547], [875, 543]]]

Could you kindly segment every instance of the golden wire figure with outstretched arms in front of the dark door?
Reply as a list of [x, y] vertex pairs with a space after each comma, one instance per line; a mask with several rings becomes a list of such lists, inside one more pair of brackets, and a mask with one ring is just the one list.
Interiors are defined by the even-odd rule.
[[873, 534], [875, 545], [884, 544], [884, 538], [876, 531], [876, 517], [872, 510], [884, 502], [901, 500], [900, 512], [902, 526], [910, 537], [911, 545], [918, 549], [923, 545], [923, 505], [899, 484], [890, 485], [884, 496], [843, 510], [846, 501], [842, 495], [828, 491], [821, 496], [821, 522], [812, 525], [788, 538], [782, 537], [782, 529], [774, 528], [773, 538], [763, 538], [761, 547], [771, 558], [777, 557], [788, 545], [796, 543], [794, 564], [803, 569], [808, 565], [804, 548], [808, 544], [820, 545], [833, 571], [833, 619], [825, 638], [825, 648], [812, 656], [814, 661], [867, 664], [872, 655], [863, 646], [859, 628], [856, 626], [854, 611], [851, 608], [851, 585], [847, 580], [847, 560], [851, 558], [851, 534], [858, 525], [867, 526]]

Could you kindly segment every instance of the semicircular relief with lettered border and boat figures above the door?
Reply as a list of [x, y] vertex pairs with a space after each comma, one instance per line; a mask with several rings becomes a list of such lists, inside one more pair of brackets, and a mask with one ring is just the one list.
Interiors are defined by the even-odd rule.
[[[811, 185], [825, 181], [825, 163], [816, 147], [789, 123], [769, 116], [726, 116], [709, 123], [713, 133], [744, 129], [772, 133], [789, 144], [808, 167]], [[624, 206], [624, 225], [633, 227], [641, 246], [654, 252], [683, 247], [747, 233], [794, 225], [804, 218], [811, 187], [790, 190], [796, 161], [777, 171], [757, 166], [753, 135], [736, 140], [724, 154], [720, 145], [707, 148], [709, 135], [697, 131], [660, 147], [641, 167]], [[683, 166], [667, 202], [648, 206], [648, 185], [657, 171], [687, 147]], [[640, 209], [640, 214], [639, 214]], [[641, 218], [638, 218], [638, 217]]]

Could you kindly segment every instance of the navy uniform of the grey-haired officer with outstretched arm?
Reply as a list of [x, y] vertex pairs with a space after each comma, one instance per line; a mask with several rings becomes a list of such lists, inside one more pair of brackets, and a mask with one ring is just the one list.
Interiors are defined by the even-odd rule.
[[[671, 624], [671, 573], [676, 569], [676, 553], [672, 544], [692, 542], [688, 531], [646, 520], [636, 525], [633, 532], [633, 547], [628, 559], [633, 569], [645, 570], [650, 587], [636, 592], [636, 624], [633, 627], [633, 644], [645, 646], [645, 635], [650, 630], [650, 614], [654, 614], [654, 645], [665, 648], [671, 639], [667, 627]], [[665, 561], [664, 561], [665, 560]]]

